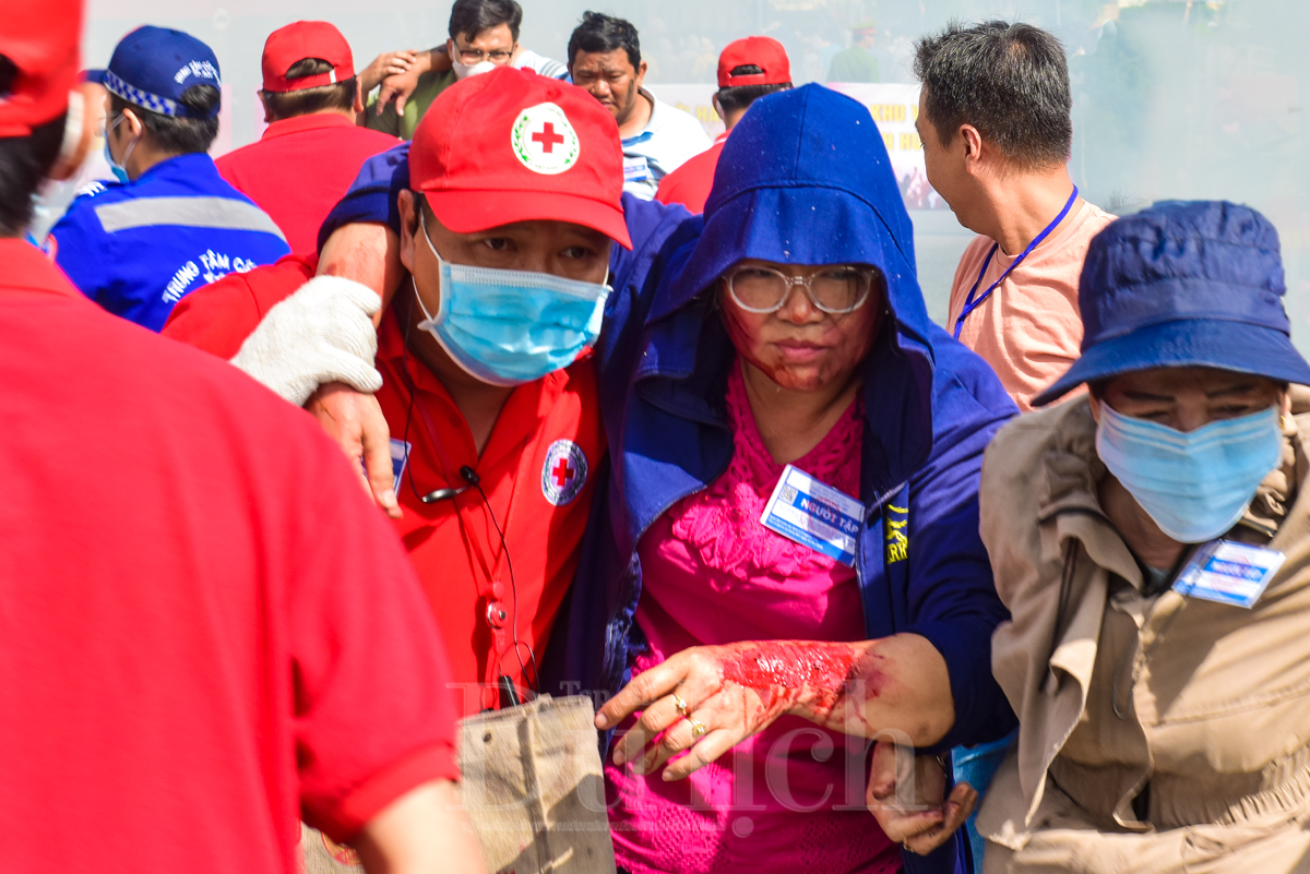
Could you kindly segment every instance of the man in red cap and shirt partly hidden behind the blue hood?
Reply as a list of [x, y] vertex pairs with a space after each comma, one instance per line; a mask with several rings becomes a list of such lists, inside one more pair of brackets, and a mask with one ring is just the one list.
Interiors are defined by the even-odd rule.
[[745, 115], [751, 103], [765, 94], [791, 88], [791, 64], [787, 51], [770, 37], [747, 37], [728, 43], [719, 55], [719, 90], [714, 109], [723, 119], [723, 132], [707, 150], [690, 157], [659, 183], [655, 199], [680, 203], [692, 212], [705, 212], [705, 199], [714, 186], [714, 167], [719, 164], [723, 141]]

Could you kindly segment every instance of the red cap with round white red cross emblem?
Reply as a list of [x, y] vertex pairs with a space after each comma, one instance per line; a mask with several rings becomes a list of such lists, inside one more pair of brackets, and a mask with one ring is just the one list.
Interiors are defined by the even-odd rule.
[[500, 67], [441, 92], [414, 131], [410, 187], [458, 234], [553, 220], [633, 246], [614, 116], [532, 71]]

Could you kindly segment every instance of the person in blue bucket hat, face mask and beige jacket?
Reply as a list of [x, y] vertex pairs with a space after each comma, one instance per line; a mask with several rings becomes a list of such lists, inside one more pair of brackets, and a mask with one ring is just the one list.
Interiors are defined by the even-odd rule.
[[1020, 718], [986, 871], [1301, 871], [1310, 852], [1310, 382], [1279, 237], [1159, 203], [1093, 239], [1082, 356], [1001, 430], [981, 530]]

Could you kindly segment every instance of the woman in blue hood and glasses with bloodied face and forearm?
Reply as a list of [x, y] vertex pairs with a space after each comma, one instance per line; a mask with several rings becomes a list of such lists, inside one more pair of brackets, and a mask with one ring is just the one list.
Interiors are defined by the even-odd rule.
[[[613, 298], [596, 347], [610, 479], [552, 644], [567, 665], [545, 674], [627, 683], [596, 720], [624, 733], [621, 869], [900, 870], [865, 811], [865, 739], [931, 752], [1014, 725], [977, 533], [982, 449], [1014, 406], [929, 321], [850, 98], [758, 101], [694, 230], [658, 288]], [[954, 870], [956, 840], [907, 869]]]

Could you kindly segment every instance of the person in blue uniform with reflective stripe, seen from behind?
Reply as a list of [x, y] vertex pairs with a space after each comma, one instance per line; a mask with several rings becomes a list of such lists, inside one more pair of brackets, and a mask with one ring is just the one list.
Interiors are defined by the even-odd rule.
[[93, 183], [47, 247], [83, 294], [159, 331], [187, 292], [290, 251], [253, 200], [207, 154], [219, 132], [219, 61], [179, 30], [123, 37], [109, 69], [105, 157], [118, 182]]

